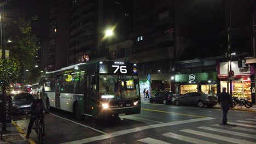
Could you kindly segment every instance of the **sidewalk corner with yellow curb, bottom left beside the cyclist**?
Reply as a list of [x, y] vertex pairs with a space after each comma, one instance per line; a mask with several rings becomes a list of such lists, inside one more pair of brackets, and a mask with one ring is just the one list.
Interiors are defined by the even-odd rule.
[[7, 131], [3, 132], [3, 141], [0, 140], [0, 144], [5, 143], [18, 143], [27, 144], [31, 143], [30, 140], [26, 140], [24, 132], [18, 127], [15, 122], [7, 123]]

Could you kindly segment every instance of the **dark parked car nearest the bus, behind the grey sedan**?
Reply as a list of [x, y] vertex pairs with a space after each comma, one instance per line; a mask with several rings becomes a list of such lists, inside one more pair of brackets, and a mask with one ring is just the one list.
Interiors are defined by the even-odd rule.
[[175, 97], [174, 92], [157, 92], [153, 97], [149, 99], [149, 103], [163, 103], [163, 104], [171, 104], [172, 99]]

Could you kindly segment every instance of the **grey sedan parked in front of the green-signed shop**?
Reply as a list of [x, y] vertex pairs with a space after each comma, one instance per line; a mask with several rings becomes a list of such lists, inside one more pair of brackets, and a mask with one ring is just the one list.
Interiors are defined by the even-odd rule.
[[190, 92], [180, 97], [174, 98], [172, 104], [175, 105], [197, 105], [198, 107], [213, 107], [218, 103], [217, 97], [205, 93]]

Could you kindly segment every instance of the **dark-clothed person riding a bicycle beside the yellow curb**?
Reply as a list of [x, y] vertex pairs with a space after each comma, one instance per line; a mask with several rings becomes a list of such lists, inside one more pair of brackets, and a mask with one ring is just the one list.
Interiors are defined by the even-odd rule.
[[43, 135], [45, 135], [45, 133], [44, 133], [44, 113], [43, 113], [44, 110], [45, 110], [45, 107], [44, 107], [43, 101], [41, 99], [34, 100], [34, 102], [31, 105], [30, 124], [28, 124], [26, 139], [28, 139], [30, 137], [30, 133], [31, 133], [34, 121], [36, 121], [36, 119], [38, 117], [40, 118], [40, 122], [43, 125]]

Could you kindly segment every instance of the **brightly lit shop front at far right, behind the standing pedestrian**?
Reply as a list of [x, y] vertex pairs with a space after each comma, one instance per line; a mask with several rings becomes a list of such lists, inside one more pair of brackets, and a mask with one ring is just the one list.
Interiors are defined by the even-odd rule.
[[[252, 98], [251, 92], [251, 70], [249, 67], [238, 68], [238, 61], [231, 63], [231, 69], [235, 75], [231, 78], [232, 96], [238, 98]], [[230, 81], [228, 81], [228, 62], [218, 63], [218, 79], [220, 81], [220, 88], [228, 88], [230, 93]]]

